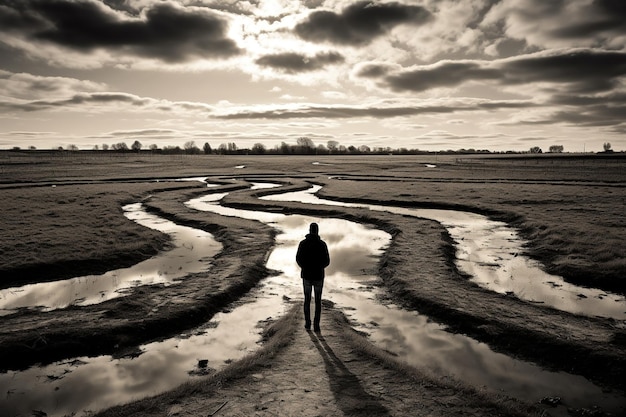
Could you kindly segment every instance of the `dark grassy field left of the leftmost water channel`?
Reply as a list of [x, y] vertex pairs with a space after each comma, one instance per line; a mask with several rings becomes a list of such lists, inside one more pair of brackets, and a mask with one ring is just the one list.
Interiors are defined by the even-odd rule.
[[63, 185], [3, 190], [0, 287], [104, 273], [156, 254], [169, 237], [127, 219], [122, 206], [194, 183]]

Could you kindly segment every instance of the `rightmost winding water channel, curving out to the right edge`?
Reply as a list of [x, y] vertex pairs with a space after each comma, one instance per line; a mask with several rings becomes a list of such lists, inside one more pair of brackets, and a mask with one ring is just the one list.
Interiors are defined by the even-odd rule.
[[467, 212], [453, 210], [409, 209], [380, 205], [342, 203], [314, 195], [313, 186], [296, 191], [261, 197], [273, 201], [298, 201], [343, 207], [367, 207], [441, 223], [456, 242], [457, 265], [476, 284], [499, 293], [513, 293], [522, 300], [539, 302], [563, 311], [588, 316], [626, 320], [626, 298], [594, 288], [572, 285], [562, 277], [550, 275], [523, 256], [524, 242], [505, 223]]

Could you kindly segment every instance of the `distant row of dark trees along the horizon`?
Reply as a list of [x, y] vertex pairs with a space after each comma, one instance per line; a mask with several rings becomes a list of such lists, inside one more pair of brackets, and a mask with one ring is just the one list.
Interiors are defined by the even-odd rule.
[[[29, 150], [35, 150], [34, 146], [30, 146]], [[13, 147], [13, 150], [20, 150], [19, 147]], [[69, 145], [66, 149], [58, 147], [59, 151], [78, 151], [78, 146]], [[217, 148], [211, 147], [209, 143], [205, 143], [202, 148], [198, 147], [195, 141], [185, 142], [183, 147], [180, 146], [164, 146], [159, 148], [157, 145], [152, 144], [147, 148], [144, 148], [143, 144], [138, 140], [135, 140], [130, 147], [126, 142], [118, 142], [114, 144], [102, 144], [96, 145], [93, 148], [94, 151], [114, 151], [123, 153], [139, 153], [150, 152], [165, 155], [426, 155], [426, 154], [443, 154], [443, 155], [455, 155], [455, 154], [491, 154], [491, 153], [507, 153], [507, 154], [541, 154], [543, 150], [539, 146], [533, 146], [528, 151], [505, 151], [505, 152], [493, 152], [487, 149], [456, 149], [456, 150], [442, 150], [442, 151], [424, 151], [420, 149], [409, 148], [391, 148], [391, 147], [369, 147], [367, 145], [356, 146], [344, 146], [335, 140], [329, 140], [326, 145], [316, 145], [311, 138], [306, 136], [299, 137], [296, 140], [296, 144], [288, 144], [282, 142], [280, 145], [276, 145], [273, 148], [267, 148], [262, 143], [255, 143], [250, 148], [240, 148], [234, 142], [222, 143]], [[552, 145], [549, 147], [549, 153], [562, 153], [564, 151], [563, 145]], [[611, 153], [611, 144], [605, 142], [603, 145], [603, 153]]]

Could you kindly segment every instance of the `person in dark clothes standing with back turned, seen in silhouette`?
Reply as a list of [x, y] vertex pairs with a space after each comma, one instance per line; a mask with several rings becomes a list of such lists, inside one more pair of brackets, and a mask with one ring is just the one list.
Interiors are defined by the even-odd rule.
[[328, 246], [319, 236], [319, 226], [311, 223], [309, 234], [298, 245], [296, 262], [301, 268], [300, 277], [304, 289], [304, 328], [311, 329], [311, 292], [315, 290], [315, 316], [313, 330], [320, 331], [322, 314], [322, 288], [324, 287], [324, 268], [330, 264]]

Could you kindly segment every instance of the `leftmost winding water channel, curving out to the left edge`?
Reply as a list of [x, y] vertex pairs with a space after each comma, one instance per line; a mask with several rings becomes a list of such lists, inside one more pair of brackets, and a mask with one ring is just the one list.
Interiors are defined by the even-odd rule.
[[137, 223], [171, 236], [173, 248], [130, 268], [68, 280], [43, 282], [0, 290], [0, 315], [20, 307], [44, 310], [69, 305], [97, 304], [128, 294], [141, 285], [169, 285], [187, 274], [206, 271], [222, 248], [210, 233], [180, 226], [145, 212], [141, 204], [124, 206], [124, 214]]

